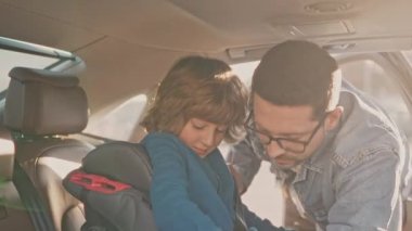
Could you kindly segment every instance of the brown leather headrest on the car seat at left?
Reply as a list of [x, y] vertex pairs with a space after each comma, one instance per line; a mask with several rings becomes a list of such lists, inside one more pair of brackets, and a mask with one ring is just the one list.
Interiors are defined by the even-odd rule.
[[79, 79], [62, 73], [14, 67], [5, 97], [4, 125], [26, 134], [80, 132], [88, 103]]

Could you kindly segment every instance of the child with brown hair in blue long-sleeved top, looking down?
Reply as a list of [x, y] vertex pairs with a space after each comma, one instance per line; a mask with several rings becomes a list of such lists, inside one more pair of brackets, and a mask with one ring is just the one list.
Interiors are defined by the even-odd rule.
[[158, 87], [142, 121], [153, 166], [151, 203], [162, 230], [232, 231], [235, 185], [217, 149], [240, 138], [247, 91], [222, 61], [188, 56]]

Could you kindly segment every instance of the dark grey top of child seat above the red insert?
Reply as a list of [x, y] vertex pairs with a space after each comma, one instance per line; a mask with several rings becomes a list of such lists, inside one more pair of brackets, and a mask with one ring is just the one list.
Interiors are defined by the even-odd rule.
[[142, 144], [114, 141], [92, 150], [82, 161], [82, 170], [132, 185], [147, 194], [152, 166]]

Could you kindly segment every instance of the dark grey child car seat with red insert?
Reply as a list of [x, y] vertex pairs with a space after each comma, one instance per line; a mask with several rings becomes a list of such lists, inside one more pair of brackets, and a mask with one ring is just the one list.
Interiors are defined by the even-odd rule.
[[139, 143], [116, 141], [90, 152], [65, 188], [86, 205], [82, 230], [156, 230], [150, 206], [152, 167]]

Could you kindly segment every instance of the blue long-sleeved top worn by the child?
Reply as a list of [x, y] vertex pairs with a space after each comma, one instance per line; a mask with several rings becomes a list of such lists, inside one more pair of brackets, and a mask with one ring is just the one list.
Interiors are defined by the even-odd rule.
[[232, 231], [234, 181], [219, 150], [201, 158], [173, 134], [143, 140], [153, 166], [151, 202], [157, 228]]

